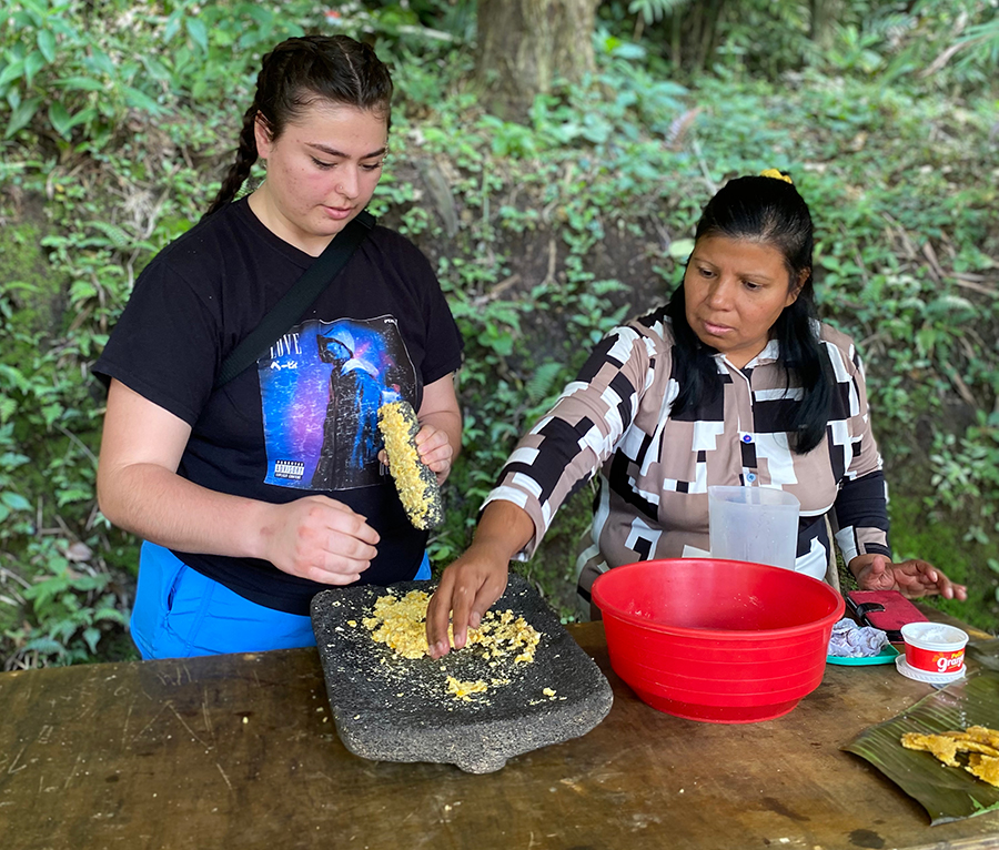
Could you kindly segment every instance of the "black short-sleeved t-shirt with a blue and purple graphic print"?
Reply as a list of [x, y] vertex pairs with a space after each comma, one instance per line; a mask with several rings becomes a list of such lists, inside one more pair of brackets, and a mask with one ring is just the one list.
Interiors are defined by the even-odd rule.
[[[462, 341], [426, 257], [376, 226], [301, 323], [220, 389], [229, 353], [313, 257], [269, 231], [243, 199], [168, 245], [140, 275], [94, 373], [191, 425], [179, 474], [271, 503], [329, 495], [379, 532], [366, 584], [412, 578], [426, 533], [410, 524], [377, 462], [377, 408], [461, 365]], [[263, 560], [175, 553], [271, 608], [307, 614], [323, 589]]]

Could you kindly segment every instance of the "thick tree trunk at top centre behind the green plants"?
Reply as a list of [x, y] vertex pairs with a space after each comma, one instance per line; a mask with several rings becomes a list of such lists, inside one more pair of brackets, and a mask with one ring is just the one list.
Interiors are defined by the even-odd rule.
[[599, 0], [480, 0], [475, 77], [485, 107], [523, 119], [555, 80], [593, 71]]

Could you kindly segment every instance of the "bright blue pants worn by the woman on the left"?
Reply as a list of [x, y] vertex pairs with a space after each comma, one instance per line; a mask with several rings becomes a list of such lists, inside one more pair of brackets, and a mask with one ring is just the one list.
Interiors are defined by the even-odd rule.
[[[415, 578], [430, 577], [424, 555]], [[315, 646], [310, 617], [251, 603], [152, 543], [139, 556], [131, 630], [147, 660]]]

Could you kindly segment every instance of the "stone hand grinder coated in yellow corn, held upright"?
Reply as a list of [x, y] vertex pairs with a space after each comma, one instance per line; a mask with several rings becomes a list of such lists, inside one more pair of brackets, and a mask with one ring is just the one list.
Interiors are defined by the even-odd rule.
[[444, 505], [437, 476], [420, 459], [416, 432], [420, 424], [408, 402], [389, 402], [379, 408], [379, 431], [385, 441], [389, 472], [410, 522], [422, 530], [440, 525]]

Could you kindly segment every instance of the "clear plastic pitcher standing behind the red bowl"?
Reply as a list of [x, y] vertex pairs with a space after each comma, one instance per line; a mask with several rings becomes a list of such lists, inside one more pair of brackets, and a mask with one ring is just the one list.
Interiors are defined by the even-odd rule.
[[795, 568], [800, 503], [769, 487], [708, 487], [712, 557]]

